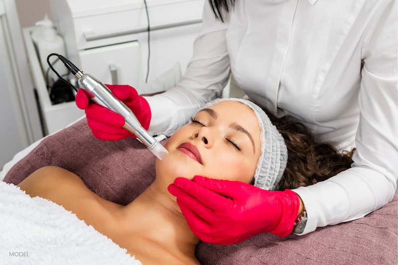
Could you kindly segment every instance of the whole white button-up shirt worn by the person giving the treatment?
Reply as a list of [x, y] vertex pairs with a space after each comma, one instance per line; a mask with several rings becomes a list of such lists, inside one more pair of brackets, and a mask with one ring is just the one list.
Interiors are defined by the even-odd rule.
[[397, 188], [397, 14], [397, 0], [237, 0], [221, 23], [206, 0], [181, 83], [147, 98], [150, 131], [185, 124], [231, 71], [257, 104], [300, 119], [319, 141], [355, 143], [351, 169], [295, 190], [308, 215], [303, 234], [360, 218]]

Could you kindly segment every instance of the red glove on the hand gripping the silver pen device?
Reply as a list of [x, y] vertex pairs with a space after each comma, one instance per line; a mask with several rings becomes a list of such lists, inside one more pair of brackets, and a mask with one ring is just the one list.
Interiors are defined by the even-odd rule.
[[[145, 98], [138, 95], [135, 88], [128, 85], [105, 85], [112, 93], [130, 108], [145, 130], [151, 121], [151, 108]], [[100, 140], [120, 140], [134, 137], [122, 128], [124, 118], [120, 114], [99, 106], [89, 100], [83, 89], [76, 94], [76, 105], [86, 112], [87, 123], [93, 135]]]

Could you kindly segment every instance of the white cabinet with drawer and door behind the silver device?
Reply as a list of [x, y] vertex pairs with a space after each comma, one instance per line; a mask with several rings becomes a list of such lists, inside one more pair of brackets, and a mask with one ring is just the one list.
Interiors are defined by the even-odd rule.
[[199, 33], [203, 0], [56, 0], [52, 17], [67, 57], [105, 84], [140, 89], [179, 62], [184, 72]]

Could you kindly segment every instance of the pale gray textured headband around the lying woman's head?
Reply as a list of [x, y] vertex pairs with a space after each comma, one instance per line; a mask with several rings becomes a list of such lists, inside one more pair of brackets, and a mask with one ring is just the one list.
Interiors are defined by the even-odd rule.
[[249, 100], [242, 98], [216, 98], [206, 103], [203, 108], [208, 108], [225, 100], [239, 101], [249, 106], [256, 113], [261, 128], [261, 156], [254, 174], [254, 185], [259, 188], [274, 190], [281, 180], [288, 161], [288, 149], [282, 135], [271, 123], [264, 110]]

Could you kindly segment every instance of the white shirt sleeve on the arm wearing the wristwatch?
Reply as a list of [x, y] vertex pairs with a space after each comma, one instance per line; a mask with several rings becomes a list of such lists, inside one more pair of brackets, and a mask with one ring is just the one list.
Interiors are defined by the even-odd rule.
[[363, 217], [390, 202], [397, 188], [397, 1], [389, 1], [374, 21], [362, 45], [354, 164], [328, 180], [295, 189], [307, 210], [303, 234]]

